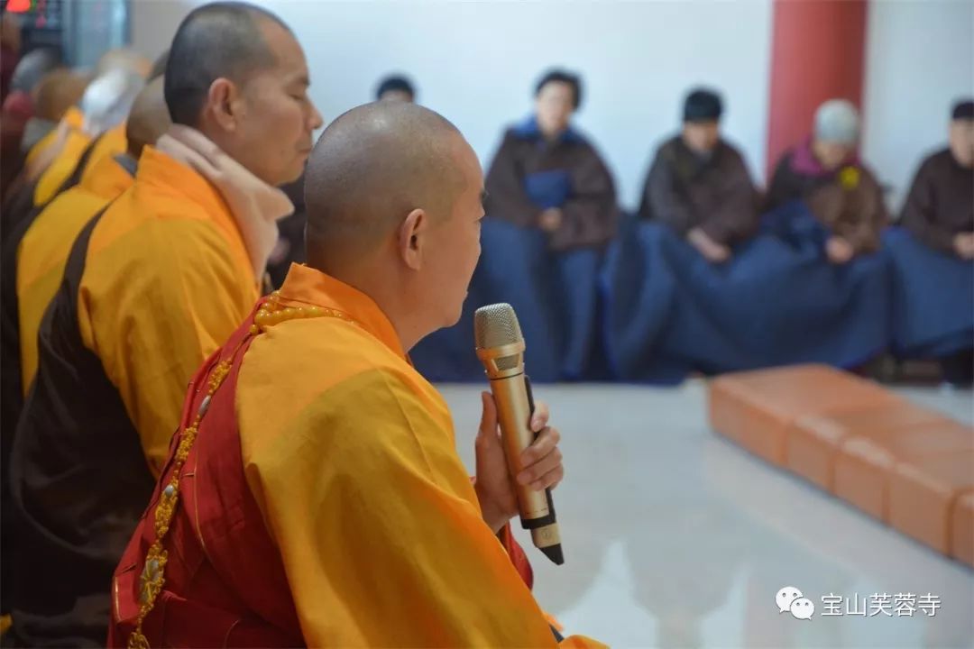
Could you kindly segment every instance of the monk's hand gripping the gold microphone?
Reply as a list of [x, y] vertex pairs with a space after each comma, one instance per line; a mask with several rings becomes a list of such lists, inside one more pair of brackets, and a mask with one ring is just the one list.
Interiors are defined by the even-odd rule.
[[547, 406], [538, 402], [531, 417], [531, 430], [538, 434], [538, 438], [521, 453], [522, 470], [511, 477], [501, 442], [494, 397], [490, 392], [483, 392], [480, 396], [483, 415], [476, 440], [477, 479], [474, 490], [480, 501], [484, 522], [496, 533], [517, 516], [515, 480], [520, 485], [537, 490], [553, 488], [564, 478], [565, 469], [558, 449], [561, 435], [547, 425]]

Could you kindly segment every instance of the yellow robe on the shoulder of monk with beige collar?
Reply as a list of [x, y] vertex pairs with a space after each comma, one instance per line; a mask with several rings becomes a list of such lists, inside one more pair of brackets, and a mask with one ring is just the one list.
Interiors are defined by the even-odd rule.
[[233, 214], [202, 175], [146, 147], [94, 228], [78, 293], [94, 351], [158, 473], [186, 383], [258, 295]]

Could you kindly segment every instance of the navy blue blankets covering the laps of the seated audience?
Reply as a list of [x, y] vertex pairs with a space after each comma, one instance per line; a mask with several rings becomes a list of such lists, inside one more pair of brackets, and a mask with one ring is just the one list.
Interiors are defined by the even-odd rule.
[[[549, 197], [565, 187], [557, 173], [533, 182]], [[624, 222], [603, 257], [553, 253], [540, 231], [488, 219], [460, 323], [412, 357], [429, 379], [483, 380], [473, 310], [494, 302], [514, 306], [537, 381], [592, 378], [600, 357], [614, 379], [666, 384], [694, 371], [851, 368], [886, 348], [931, 357], [971, 346], [974, 263], [891, 228], [880, 253], [835, 266], [827, 236], [804, 204], [790, 203], [715, 266], [656, 224]]]

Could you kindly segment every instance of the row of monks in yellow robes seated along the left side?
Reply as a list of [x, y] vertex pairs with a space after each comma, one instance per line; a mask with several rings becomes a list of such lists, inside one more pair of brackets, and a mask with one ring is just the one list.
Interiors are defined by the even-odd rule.
[[[564, 475], [546, 408], [512, 475], [485, 399], [471, 480], [406, 355], [479, 255], [460, 131], [373, 102], [313, 146], [301, 46], [240, 2], [155, 66], [106, 54], [62, 115], [73, 73], [42, 76], [5, 102], [38, 120], [0, 230], [4, 645], [602, 646], [510, 532], [514, 479]], [[268, 296], [302, 173], [308, 263]]]

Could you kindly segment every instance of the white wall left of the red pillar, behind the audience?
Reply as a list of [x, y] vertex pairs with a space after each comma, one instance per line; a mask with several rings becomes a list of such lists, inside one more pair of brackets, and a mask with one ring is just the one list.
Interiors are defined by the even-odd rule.
[[[135, 0], [133, 45], [159, 54], [195, 4]], [[559, 64], [583, 76], [578, 125], [615, 172], [626, 207], [638, 203], [651, 149], [678, 126], [693, 84], [724, 91], [727, 135], [756, 174], [764, 166], [769, 0], [264, 4], [304, 46], [326, 119], [371, 100], [377, 80], [400, 70], [488, 164], [502, 127], [530, 110], [536, 79]]]

